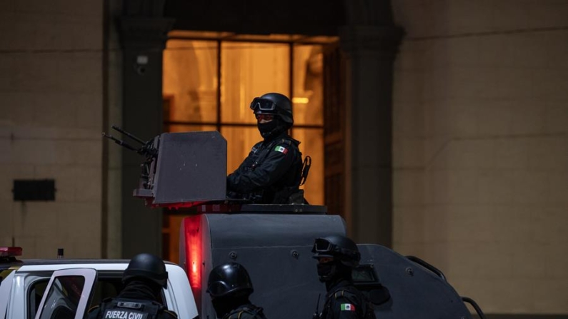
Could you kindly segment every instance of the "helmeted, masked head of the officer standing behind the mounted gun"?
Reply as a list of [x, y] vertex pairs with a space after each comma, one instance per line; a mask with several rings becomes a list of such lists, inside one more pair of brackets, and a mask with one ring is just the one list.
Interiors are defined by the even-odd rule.
[[263, 138], [276, 136], [294, 124], [292, 102], [281, 93], [266, 93], [251, 102], [257, 126]]

